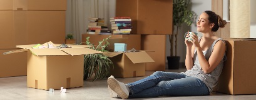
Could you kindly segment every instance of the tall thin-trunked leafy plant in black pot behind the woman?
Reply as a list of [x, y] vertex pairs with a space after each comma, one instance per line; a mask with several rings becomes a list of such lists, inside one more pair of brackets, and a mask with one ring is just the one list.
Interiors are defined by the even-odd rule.
[[[169, 35], [171, 54], [167, 56], [168, 69], [178, 69], [180, 65], [180, 56], [177, 56], [178, 30], [183, 23], [190, 26], [196, 17], [195, 12], [188, 9], [189, 4], [189, 0], [173, 0], [173, 34]], [[173, 51], [175, 52], [174, 54]]]

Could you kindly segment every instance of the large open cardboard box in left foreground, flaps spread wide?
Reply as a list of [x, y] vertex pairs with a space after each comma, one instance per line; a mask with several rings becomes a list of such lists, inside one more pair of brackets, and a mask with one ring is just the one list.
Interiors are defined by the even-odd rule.
[[[43, 44], [46, 46], [48, 43]], [[86, 45], [68, 45], [69, 48], [33, 49], [31, 45], [19, 45], [17, 51], [4, 54], [28, 51], [27, 86], [36, 89], [61, 89], [83, 86], [84, 54], [101, 53], [89, 49]], [[55, 44], [53, 44], [55, 46]], [[56, 45], [57, 46], [57, 45]]]

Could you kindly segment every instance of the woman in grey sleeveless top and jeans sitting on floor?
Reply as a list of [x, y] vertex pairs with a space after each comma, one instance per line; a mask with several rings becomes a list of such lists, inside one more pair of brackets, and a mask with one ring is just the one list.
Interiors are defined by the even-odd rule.
[[[212, 11], [203, 12], [197, 21], [197, 31], [185, 40], [187, 54], [185, 73], [156, 71], [134, 83], [124, 84], [113, 76], [108, 78], [111, 98], [153, 98], [158, 96], [203, 96], [212, 93], [226, 60], [225, 42], [213, 34], [227, 22]], [[187, 34], [188, 37], [189, 34]]]

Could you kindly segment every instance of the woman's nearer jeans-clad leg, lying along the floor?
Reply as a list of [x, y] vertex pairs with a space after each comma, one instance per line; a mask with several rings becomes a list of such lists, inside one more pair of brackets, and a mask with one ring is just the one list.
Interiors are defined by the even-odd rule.
[[209, 95], [207, 86], [198, 78], [187, 77], [172, 81], [161, 81], [152, 88], [144, 89], [130, 98], [152, 98], [158, 96], [202, 96]]

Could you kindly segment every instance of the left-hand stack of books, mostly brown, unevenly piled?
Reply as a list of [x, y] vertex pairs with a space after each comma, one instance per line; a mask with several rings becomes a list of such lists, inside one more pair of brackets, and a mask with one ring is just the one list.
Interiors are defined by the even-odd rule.
[[105, 20], [98, 17], [89, 17], [88, 34], [111, 34]]

